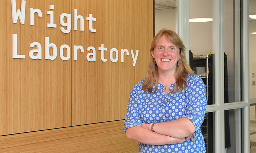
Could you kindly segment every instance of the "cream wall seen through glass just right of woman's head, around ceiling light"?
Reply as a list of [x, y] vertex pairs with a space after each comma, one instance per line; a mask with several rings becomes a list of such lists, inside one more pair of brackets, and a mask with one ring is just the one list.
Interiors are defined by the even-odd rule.
[[[213, 18], [212, 0], [190, 0], [190, 18]], [[193, 55], [214, 53], [214, 21], [190, 22], [190, 50]]]

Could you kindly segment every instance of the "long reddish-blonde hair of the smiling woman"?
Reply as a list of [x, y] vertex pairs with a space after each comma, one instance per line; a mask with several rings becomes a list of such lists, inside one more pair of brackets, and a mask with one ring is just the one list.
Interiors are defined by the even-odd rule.
[[[194, 74], [194, 72], [192, 71], [192, 69], [187, 63], [186, 56], [185, 56], [186, 48], [181, 38], [174, 31], [162, 29], [154, 37], [151, 43], [150, 53], [151, 51], [154, 51], [162, 35], [165, 35], [167, 38], [169, 38], [169, 41], [173, 43], [180, 50], [180, 60], [178, 60], [177, 62], [176, 72], [175, 72], [176, 85], [172, 89], [171, 93], [173, 92], [180, 93], [182, 91], [183, 86], [185, 87], [185, 91], [186, 91], [186, 87], [187, 87], [186, 77], [188, 73]], [[153, 93], [152, 89], [155, 83], [156, 83], [156, 88], [154, 93], [158, 88], [158, 66], [154, 64], [154, 60], [155, 59], [151, 56], [151, 59], [149, 61], [148, 77], [142, 84], [142, 89], [145, 92], [149, 92], [149, 93]]]

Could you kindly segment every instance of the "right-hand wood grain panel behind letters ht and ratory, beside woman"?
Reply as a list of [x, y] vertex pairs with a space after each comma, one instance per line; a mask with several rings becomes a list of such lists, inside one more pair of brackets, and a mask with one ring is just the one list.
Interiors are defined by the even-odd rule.
[[[84, 53], [78, 52], [78, 61], [72, 60], [72, 125], [124, 119], [132, 86], [146, 77], [153, 39], [153, 1], [87, 0], [81, 5], [81, 0], [76, 0], [71, 6], [84, 19], [89, 14], [96, 18], [95, 33], [89, 31], [86, 20], [84, 31], [72, 33], [72, 45], [84, 47]], [[107, 62], [101, 61], [101, 44], [107, 48]], [[86, 60], [86, 54], [92, 52], [86, 50], [90, 46], [96, 49], [96, 61]], [[117, 62], [110, 60], [112, 48], [118, 50]], [[121, 49], [129, 50], [124, 62]], [[139, 50], [135, 66], [130, 50], [134, 54]]]

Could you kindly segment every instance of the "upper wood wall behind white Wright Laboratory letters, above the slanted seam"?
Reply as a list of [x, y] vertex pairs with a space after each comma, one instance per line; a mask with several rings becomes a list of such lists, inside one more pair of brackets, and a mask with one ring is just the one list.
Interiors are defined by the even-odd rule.
[[[54, 5], [51, 11], [57, 28], [46, 27], [49, 5]], [[21, 0], [16, 0], [16, 8], [21, 9]], [[34, 26], [29, 25], [29, 8], [42, 11], [42, 17], [34, 15]], [[0, 135], [124, 119], [132, 86], [146, 76], [153, 1], [26, 0], [25, 24], [12, 23], [11, 0], [1, 2], [0, 9]], [[84, 31], [74, 31], [74, 9], [84, 17]], [[61, 13], [71, 14], [68, 34], [60, 31]], [[89, 31], [86, 17], [90, 13], [97, 19], [96, 33]], [[17, 34], [17, 53], [25, 59], [12, 58], [12, 34]], [[44, 59], [45, 37], [57, 45], [55, 60]], [[36, 49], [29, 47], [32, 42], [41, 44], [41, 60], [30, 59], [29, 51]], [[71, 48], [68, 61], [60, 59], [62, 44]], [[101, 61], [101, 44], [107, 48], [107, 62]], [[74, 45], [84, 47], [78, 61], [74, 61]], [[96, 61], [86, 60], [89, 46], [96, 49]], [[118, 50], [117, 62], [110, 60], [111, 48]], [[121, 49], [129, 50], [124, 62]], [[136, 66], [130, 50], [134, 54], [139, 50]]]

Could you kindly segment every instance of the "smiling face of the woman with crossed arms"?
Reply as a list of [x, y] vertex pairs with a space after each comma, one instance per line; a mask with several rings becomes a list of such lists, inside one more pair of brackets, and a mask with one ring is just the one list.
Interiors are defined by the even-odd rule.
[[169, 41], [166, 35], [162, 35], [151, 51], [152, 57], [158, 65], [159, 72], [175, 72], [177, 61], [180, 59], [180, 50]]

